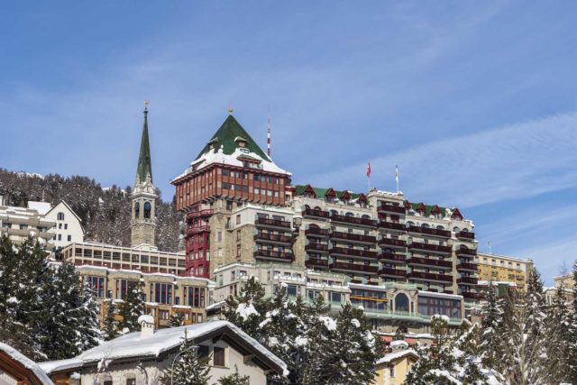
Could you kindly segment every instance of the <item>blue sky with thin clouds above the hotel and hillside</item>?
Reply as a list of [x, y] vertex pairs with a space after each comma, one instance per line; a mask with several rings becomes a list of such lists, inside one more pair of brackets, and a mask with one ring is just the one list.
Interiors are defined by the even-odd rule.
[[[459, 206], [546, 280], [577, 259], [576, 2], [11, 2], [0, 167], [163, 197], [234, 107], [295, 183]], [[8, 143], [7, 145], [5, 143]]]

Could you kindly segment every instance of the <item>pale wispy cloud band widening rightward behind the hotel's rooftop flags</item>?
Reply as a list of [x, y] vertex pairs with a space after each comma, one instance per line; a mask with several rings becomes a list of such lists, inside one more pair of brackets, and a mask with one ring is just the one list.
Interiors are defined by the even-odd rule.
[[[554, 115], [439, 140], [371, 159], [373, 180], [393, 188], [398, 164], [409, 199], [480, 206], [577, 187], [577, 114]], [[316, 176], [318, 185], [363, 186], [365, 160]], [[337, 187], [337, 186], [335, 186]]]

